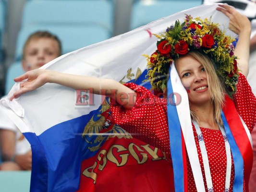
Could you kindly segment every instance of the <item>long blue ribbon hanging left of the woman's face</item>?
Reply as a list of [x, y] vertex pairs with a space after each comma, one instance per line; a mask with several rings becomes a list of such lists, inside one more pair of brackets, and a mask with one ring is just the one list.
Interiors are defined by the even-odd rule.
[[[171, 74], [171, 67], [169, 74]], [[170, 135], [171, 160], [174, 173], [175, 192], [184, 192], [184, 170], [182, 156], [182, 132], [181, 123], [174, 101], [173, 89], [171, 86], [171, 76], [167, 83], [167, 115]], [[174, 139], [173, 139], [174, 138]], [[186, 157], [184, 157], [186, 158]]]

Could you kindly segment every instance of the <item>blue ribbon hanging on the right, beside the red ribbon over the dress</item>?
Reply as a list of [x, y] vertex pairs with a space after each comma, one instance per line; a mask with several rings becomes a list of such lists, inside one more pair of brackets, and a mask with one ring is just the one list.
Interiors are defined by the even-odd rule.
[[232, 135], [230, 130], [229, 124], [226, 120], [226, 117], [221, 111], [221, 119], [223, 121], [223, 125], [225, 128], [226, 135], [229, 140], [233, 161], [234, 161], [234, 168], [235, 168], [235, 178], [233, 184], [233, 192], [243, 192], [243, 184], [244, 184], [244, 159], [239, 151], [239, 148], [235, 142], [235, 139]]

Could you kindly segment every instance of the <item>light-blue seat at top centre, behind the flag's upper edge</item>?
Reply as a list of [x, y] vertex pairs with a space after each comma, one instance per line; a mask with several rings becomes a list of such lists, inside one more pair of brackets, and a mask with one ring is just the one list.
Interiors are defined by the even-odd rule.
[[132, 7], [130, 29], [201, 4], [202, 0], [137, 0]]

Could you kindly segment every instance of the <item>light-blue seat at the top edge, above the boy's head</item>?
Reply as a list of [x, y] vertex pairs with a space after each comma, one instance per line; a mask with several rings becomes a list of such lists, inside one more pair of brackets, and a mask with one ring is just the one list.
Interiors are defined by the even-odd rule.
[[22, 27], [33, 24], [100, 25], [113, 32], [114, 7], [103, 0], [30, 0], [24, 5]]

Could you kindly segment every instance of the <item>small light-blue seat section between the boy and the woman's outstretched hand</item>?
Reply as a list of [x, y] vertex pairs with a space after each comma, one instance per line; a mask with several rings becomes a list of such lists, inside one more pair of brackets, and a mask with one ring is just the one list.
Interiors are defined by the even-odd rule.
[[6, 78], [5, 78], [5, 94], [8, 94], [8, 92], [11, 90], [13, 84], [15, 83], [13, 79], [15, 77], [18, 77], [24, 73], [22, 69], [22, 64], [20, 61], [14, 62], [6, 72]]

